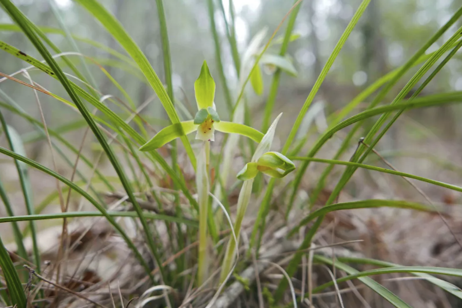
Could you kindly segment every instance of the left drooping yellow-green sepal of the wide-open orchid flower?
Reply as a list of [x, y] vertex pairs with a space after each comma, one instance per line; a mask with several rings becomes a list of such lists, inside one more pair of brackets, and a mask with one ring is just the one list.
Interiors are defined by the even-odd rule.
[[194, 121], [184, 121], [176, 124], [169, 125], [159, 131], [156, 136], [152, 137], [151, 140], [146, 142], [143, 146], [140, 147], [140, 151], [150, 151], [160, 148], [164, 144], [190, 134], [191, 132], [197, 129]]

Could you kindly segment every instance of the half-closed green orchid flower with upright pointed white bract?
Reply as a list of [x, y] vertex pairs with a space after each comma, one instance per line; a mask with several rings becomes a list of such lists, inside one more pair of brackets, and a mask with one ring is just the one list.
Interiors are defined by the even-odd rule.
[[257, 149], [255, 150], [252, 161], [247, 163], [244, 168], [238, 173], [237, 178], [242, 181], [248, 181], [255, 178], [258, 172], [272, 177], [272, 178], [283, 178], [290, 174], [295, 169], [294, 163], [282, 155], [279, 152], [271, 152], [271, 144], [274, 139], [274, 132], [276, 125], [281, 118], [281, 114], [278, 115], [273, 124], [269, 127], [265, 136], [261, 140]]

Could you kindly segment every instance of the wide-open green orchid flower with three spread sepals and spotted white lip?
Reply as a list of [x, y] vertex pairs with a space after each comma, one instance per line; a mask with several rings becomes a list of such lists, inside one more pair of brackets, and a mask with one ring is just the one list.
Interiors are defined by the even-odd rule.
[[214, 103], [215, 81], [205, 61], [199, 78], [194, 83], [194, 91], [198, 107], [194, 120], [183, 121], [163, 128], [156, 136], [140, 147], [141, 151], [160, 148], [166, 143], [194, 131], [196, 131], [196, 139], [202, 141], [215, 141], [215, 130], [218, 130], [224, 133], [238, 133], [260, 143], [263, 133], [255, 128], [220, 120]]

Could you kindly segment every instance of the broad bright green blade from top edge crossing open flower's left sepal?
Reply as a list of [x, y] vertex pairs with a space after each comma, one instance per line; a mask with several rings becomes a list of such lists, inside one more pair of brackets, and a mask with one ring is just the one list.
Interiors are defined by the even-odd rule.
[[[97, 20], [106, 28], [106, 30], [112, 34], [112, 36], [119, 42], [119, 44], [128, 52], [132, 59], [138, 64], [143, 74], [146, 76], [149, 84], [157, 93], [165, 111], [172, 124], [180, 122], [177, 111], [174, 105], [170, 101], [165, 88], [157, 76], [156, 72], [149, 64], [144, 53], [133, 41], [130, 35], [125, 31], [123, 26], [115, 19], [115, 17], [109, 13], [101, 4], [95, 0], [76, 0], [80, 5], [88, 10]], [[192, 152], [191, 145], [189, 144], [186, 136], [180, 137], [183, 145], [188, 154], [189, 160], [194, 168], [196, 168], [196, 158], [194, 152]]]

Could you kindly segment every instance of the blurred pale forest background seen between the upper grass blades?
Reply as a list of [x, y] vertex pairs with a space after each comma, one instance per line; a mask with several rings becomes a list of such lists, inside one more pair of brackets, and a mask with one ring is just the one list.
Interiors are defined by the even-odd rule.
[[[50, 27], [51, 31], [52, 29], [60, 29], [60, 24], [53, 13], [50, 1], [54, 1], [54, 7], [60, 11], [66, 27], [72, 34], [96, 41], [125, 54], [97, 21], [71, 0], [17, 0], [15, 4], [35, 24]], [[102, 3], [123, 24], [142, 48], [161, 80], [164, 80], [162, 46], [155, 3], [124, 0], [105, 0]], [[222, 62], [234, 102], [239, 92], [237, 73], [226, 40], [223, 14], [218, 2], [214, 3], [215, 20], [221, 41]], [[301, 3], [294, 29], [294, 33], [300, 34], [300, 37], [292, 42], [288, 49], [288, 54], [292, 57], [298, 76], [294, 78], [288, 74], [281, 75], [281, 86], [274, 109], [274, 114], [281, 111], [285, 113], [279, 133], [287, 133], [292, 126], [320, 70], [359, 3], [359, 0], [310, 0]], [[461, 3], [462, 0], [371, 1], [358, 26], [353, 30], [337, 57], [315, 101], [323, 102], [326, 115], [347, 104], [357, 93], [380, 76], [405, 63], [422, 43], [450, 18]], [[292, 5], [293, 2], [288, 0], [235, 0], [235, 27], [239, 53], [242, 54], [252, 37], [265, 27], [268, 29], [264, 40], [266, 42]], [[217, 108], [220, 110], [220, 116], [228, 119], [223, 87], [215, 61], [216, 54], [206, 1], [168, 0], [165, 1], [164, 6], [176, 100], [181, 101], [186, 107], [191, 107], [188, 109], [194, 114], [193, 85], [200, 65], [203, 60], [206, 60], [217, 82], [215, 99]], [[229, 18], [228, 1], [223, 1], [223, 6], [226, 17]], [[0, 12], [0, 24], [11, 23], [7, 14], [4, 11]], [[453, 28], [459, 27], [459, 23], [456, 23]], [[285, 27], [286, 23], [282, 25], [278, 35], [283, 35]], [[452, 33], [451, 30], [440, 38], [439, 46], [447, 40]], [[51, 33], [49, 37], [62, 51], [75, 51], [64, 35]], [[0, 39], [40, 59], [40, 55], [22, 33], [4, 29], [0, 31]], [[102, 93], [123, 97], [93, 61], [102, 65], [122, 85], [138, 106], [149, 98], [154, 100], [142, 111], [143, 116], [148, 119], [151, 125], [159, 129], [168, 123], [166, 114], [155, 93], [146, 84], [142, 74], [136, 68], [130, 67], [117, 57], [90, 44], [80, 40], [76, 42], [80, 51], [87, 57], [69, 55], [68, 58], [79, 70], [83, 69], [82, 59], [87, 62]], [[428, 52], [436, 50], [438, 47], [436, 45], [432, 46]], [[270, 47], [270, 51], [278, 53], [279, 47]], [[91, 57], [93, 61], [88, 57]], [[60, 61], [63, 63], [62, 60]], [[24, 62], [5, 52], [0, 53], [0, 71], [10, 74], [22, 67], [24, 67]], [[64, 67], [66, 66], [64, 65]], [[451, 61], [451, 65], [444, 67], [437, 78], [425, 88], [423, 94], [462, 90], [460, 67], [460, 55], [456, 55]], [[401, 79], [401, 83], [389, 93], [388, 100], [394, 97], [397, 90], [404, 85], [406, 80], [409, 80], [416, 70], [417, 68], [411, 69], [407, 76]], [[68, 68], [65, 71], [71, 73]], [[32, 78], [46, 89], [67, 97], [59, 82], [48, 76], [43, 76], [37, 70], [32, 70], [31, 73]], [[252, 123], [257, 123], [254, 125], [256, 128], [261, 128], [263, 108], [271, 81], [271, 75], [268, 73], [271, 72], [267, 72], [263, 76], [265, 85], [263, 95], [257, 96], [253, 91], [248, 91], [247, 95], [247, 103], [252, 111], [249, 115], [252, 117]], [[40, 79], [37, 79], [39, 75], [41, 75]], [[6, 81], [0, 84], [0, 99], [8, 101], [8, 97], [5, 95], [19, 102], [30, 115], [36, 119], [39, 118], [31, 89]], [[43, 104], [43, 108], [47, 124], [50, 127], [59, 128], [80, 119], [77, 112], [73, 112], [64, 104], [46, 97], [44, 94], [40, 95], [41, 99], [47, 102]], [[382, 103], [388, 104], [388, 100]], [[353, 112], [362, 110], [366, 106], [365, 103], [367, 102], [359, 105], [358, 109]], [[117, 106], [112, 103], [107, 101], [106, 104], [109, 104], [111, 109], [118, 110]], [[13, 126], [23, 134], [23, 137], [31, 137], [31, 134], [28, 135], [28, 133], [33, 131], [33, 127], [28, 122], [9, 113], [8, 110], [5, 110], [5, 113], [8, 122], [14, 124]], [[458, 105], [409, 111], [406, 113], [406, 117], [403, 117], [404, 120], [393, 125], [386, 138], [378, 145], [378, 149], [400, 148], [406, 150], [406, 145], [413, 146], [409, 143], [410, 139], [413, 143], [419, 142], [420, 139], [425, 139], [427, 142], [428, 136], [437, 136], [438, 142], [447, 140], [454, 144], [453, 141], [460, 140], [461, 137], [458, 133], [462, 128], [462, 124], [458, 121], [461, 113], [461, 108]], [[185, 119], [184, 113], [180, 112], [180, 117]], [[409, 118], [412, 118], [413, 121], [409, 121]], [[368, 123], [373, 124], [372, 120]], [[78, 130], [71, 132], [66, 137], [70, 140], [75, 138], [76, 142], [80, 142], [79, 136], [81, 134], [83, 134], [83, 130]], [[31, 158], [40, 155], [46, 156], [45, 153], [48, 150], [46, 141], [42, 140], [42, 142], [33, 144], [29, 155]]]

